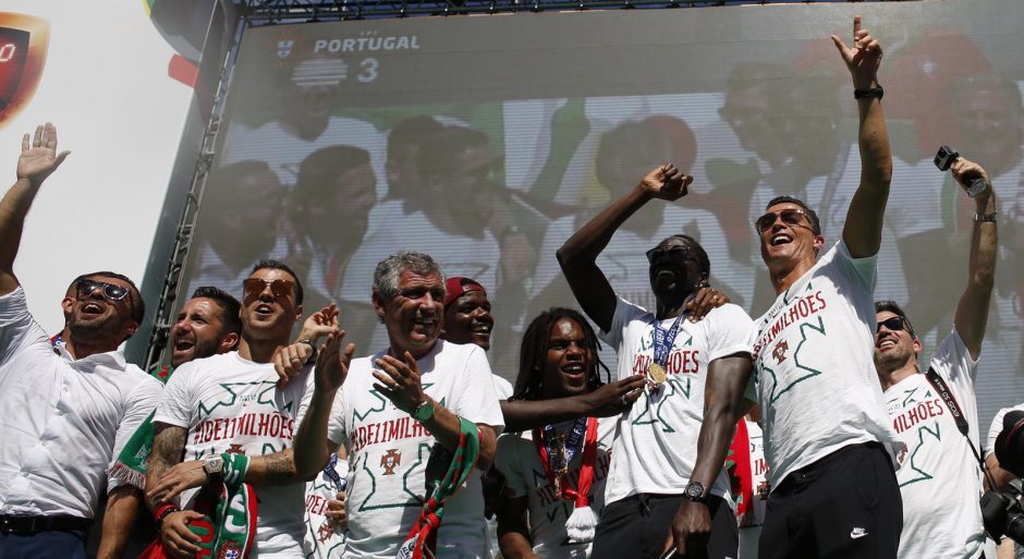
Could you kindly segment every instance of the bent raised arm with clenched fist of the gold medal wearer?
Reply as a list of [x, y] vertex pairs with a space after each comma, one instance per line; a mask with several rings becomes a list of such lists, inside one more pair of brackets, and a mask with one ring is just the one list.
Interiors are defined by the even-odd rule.
[[686, 195], [693, 177], [683, 174], [674, 165], [654, 169], [626, 195], [617, 199], [565, 241], [556, 256], [565, 280], [583, 312], [602, 331], [611, 328], [615, 314], [615, 291], [597, 266], [597, 256], [608, 246], [615, 231], [653, 198], [669, 202]]

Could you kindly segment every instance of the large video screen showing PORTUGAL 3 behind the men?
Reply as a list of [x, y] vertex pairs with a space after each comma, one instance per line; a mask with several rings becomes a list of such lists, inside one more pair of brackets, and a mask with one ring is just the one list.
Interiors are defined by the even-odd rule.
[[487, 288], [491, 363], [514, 380], [529, 319], [575, 306], [556, 250], [670, 161], [695, 177], [690, 194], [634, 215], [601, 269], [621, 296], [653, 307], [644, 252], [688, 233], [710, 255], [711, 283], [756, 317], [775, 299], [752, 226], [766, 203], [807, 200], [831, 245], [858, 183], [856, 104], [828, 38], [849, 40], [855, 10], [886, 48], [895, 163], [876, 296], [904, 304], [925, 359], [965, 287], [974, 217], [932, 157], [948, 144], [995, 177], [1001, 250], [978, 374], [987, 425], [1024, 401], [1015, 0], [249, 28], [182, 285], [240, 295], [256, 260], [281, 259], [302, 276], [306, 312], [338, 302], [369, 354], [388, 344], [370, 305], [375, 265], [425, 252]]

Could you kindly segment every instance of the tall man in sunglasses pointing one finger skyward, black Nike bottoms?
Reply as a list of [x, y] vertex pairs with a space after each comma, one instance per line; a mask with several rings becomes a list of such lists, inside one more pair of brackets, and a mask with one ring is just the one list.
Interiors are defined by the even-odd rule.
[[873, 292], [892, 156], [861, 17], [853, 47], [832, 36], [860, 111], [861, 182], [842, 240], [825, 244], [802, 200], [772, 199], [755, 222], [778, 297], [755, 320], [757, 399], [770, 465], [758, 556], [894, 558], [902, 509], [885, 400], [871, 362]]

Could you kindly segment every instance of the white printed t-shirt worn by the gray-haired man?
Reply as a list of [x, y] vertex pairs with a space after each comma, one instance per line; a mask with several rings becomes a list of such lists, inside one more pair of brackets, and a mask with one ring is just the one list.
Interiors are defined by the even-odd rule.
[[[349, 525], [345, 558], [393, 559], [419, 518], [427, 460], [435, 438], [373, 387], [374, 362], [385, 352], [353, 360], [328, 422], [328, 438], [349, 450]], [[473, 344], [438, 340], [416, 362], [424, 391], [473, 423], [504, 426], [490, 365]], [[442, 472], [447, 469], [442, 469]], [[487, 557], [480, 472], [444, 503], [438, 557]]]

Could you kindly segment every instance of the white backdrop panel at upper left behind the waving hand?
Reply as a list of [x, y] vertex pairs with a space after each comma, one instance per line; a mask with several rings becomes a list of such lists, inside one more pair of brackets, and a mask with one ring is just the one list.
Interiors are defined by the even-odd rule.
[[[39, 192], [14, 266], [33, 315], [49, 332], [63, 327], [60, 300], [77, 275], [109, 269], [142, 283], [147, 268], [193, 92], [169, 75], [176, 52], [150, 19], [154, 3], [5, 0], [0, 7], [0, 28], [21, 27], [17, 16], [29, 15], [33, 40], [46, 45], [45, 60], [28, 69], [38, 88], [22, 96], [19, 112], [0, 119], [3, 190], [14, 182], [22, 134], [36, 124], [57, 124], [60, 148], [72, 151]], [[207, 13], [204, 33], [208, 23]], [[23, 52], [8, 31], [0, 31], [0, 50], [14, 44], [7, 48], [14, 58], [0, 64]], [[0, 69], [0, 85], [25, 77]], [[5, 93], [0, 102], [10, 100]]]

